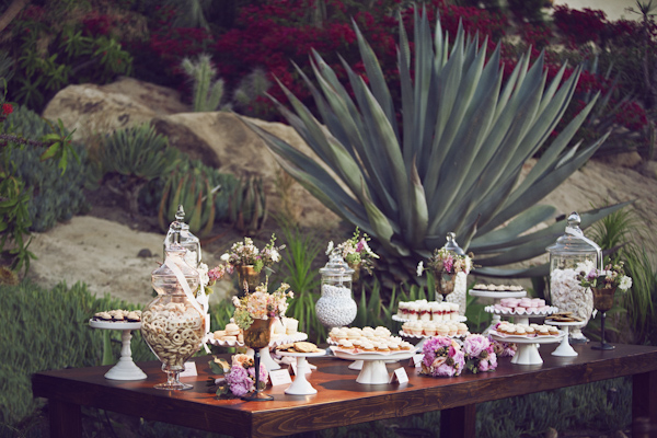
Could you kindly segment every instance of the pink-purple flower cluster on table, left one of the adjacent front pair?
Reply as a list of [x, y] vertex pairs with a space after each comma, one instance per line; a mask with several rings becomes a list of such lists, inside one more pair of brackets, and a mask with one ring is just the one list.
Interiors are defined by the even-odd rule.
[[433, 377], [460, 376], [465, 358], [459, 344], [449, 336], [434, 336], [424, 343], [422, 373]]

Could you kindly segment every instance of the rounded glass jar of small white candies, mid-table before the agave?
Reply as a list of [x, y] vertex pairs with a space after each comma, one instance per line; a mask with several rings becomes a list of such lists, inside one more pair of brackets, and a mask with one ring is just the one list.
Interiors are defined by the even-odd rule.
[[320, 269], [322, 275], [322, 297], [315, 303], [320, 322], [327, 327], [350, 324], [356, 318], [357, 306], [351, 297], [354, 269], [343, 260], [335, 249], [328, 263]]

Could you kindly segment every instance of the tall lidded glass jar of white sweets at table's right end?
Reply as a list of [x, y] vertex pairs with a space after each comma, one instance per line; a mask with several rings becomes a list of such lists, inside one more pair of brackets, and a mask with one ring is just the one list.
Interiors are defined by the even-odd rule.
[[573, 312], [583, 319], [581, 325], [570, 327], [572, 343], [586, 343], [581, 333], [593, 311], [593, 296], [589, 288], [577, 280], [579, 273], [599, 268], [602, 252], [596, 242], [587, 239], [579, 228], [581, 219], [572, 212], [567, 219], [566, 233], [551, 246], [550, 253], [550, 301], [561, 312]]

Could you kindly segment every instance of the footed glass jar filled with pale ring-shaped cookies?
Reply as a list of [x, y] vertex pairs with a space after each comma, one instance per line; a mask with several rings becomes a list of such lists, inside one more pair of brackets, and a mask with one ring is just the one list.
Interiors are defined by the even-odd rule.
[[152, 273], [158, 296], [141, 312], [141, 335], [162, 362], [166, 382], [154, 388], [187, 390], [178, 380], [185, 361], [196, 353], [205, 335], [205, 312], [194, 298], [200, 278], [185, 262], [186, 250], [172, 243], [164, 263]]

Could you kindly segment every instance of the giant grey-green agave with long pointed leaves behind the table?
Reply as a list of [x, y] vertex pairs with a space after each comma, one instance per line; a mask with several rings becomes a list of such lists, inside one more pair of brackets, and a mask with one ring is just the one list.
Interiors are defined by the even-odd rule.
[[[537, 203], [579, 169], [606, 138], [566, 150], [593, 99], [520, 182], [522, 165], [563, 116], [580, 68], [564, 79], [563, 66], [548, 83], [543, 56], [530, 66], [527, 54], [505, 79], [499, 46], [487, 57], [486, 44], [480, 46], [462, 26], [450, 44], [440, 23], [431, 34], [426, 12], [415, 13], [412, 56], [400, 23], [401, 123], [383, 71], [358, 27], [367, 81], [343, 62], [354, 97], [318, 53], [311, 64], [319, 88], [299, 69], [324, 126], [283, 84], [296, 113], [275, 102], [320, 161], [243, 122], [307, 189], [376, 239], [393, 275], [413, 276], [417, 262], [442, 246], [448, 232], [476, 254], [480, 274], [546, 274], [546, 266], [500, 266], [543, 254], [563, 233], [563, 221], [529, 232], [555, 215], [554, 207]], [[614, 208], [581, 214], [583, 226]]]

